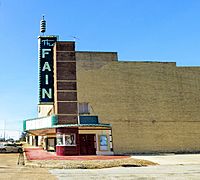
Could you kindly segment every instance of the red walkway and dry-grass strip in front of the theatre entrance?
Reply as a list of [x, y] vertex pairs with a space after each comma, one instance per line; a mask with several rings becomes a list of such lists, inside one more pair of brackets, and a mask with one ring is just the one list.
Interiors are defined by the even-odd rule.
[[141, 167], [157, 165], [151, 161], [129, 156], [56, 156], [41, 148], [24, 148], [27, 167], [59, 169], [102, 169], [111, 167]]

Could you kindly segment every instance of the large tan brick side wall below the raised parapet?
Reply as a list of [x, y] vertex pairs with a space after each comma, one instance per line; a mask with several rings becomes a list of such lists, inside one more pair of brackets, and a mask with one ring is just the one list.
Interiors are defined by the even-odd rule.
[[200, 67], [76, 59], [78, 101], [112, 124], [115, 153], [200, 151]]

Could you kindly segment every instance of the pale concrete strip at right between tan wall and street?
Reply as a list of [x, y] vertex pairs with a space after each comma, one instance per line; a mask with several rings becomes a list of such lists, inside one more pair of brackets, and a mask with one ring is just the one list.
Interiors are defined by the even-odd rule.
[[149, 160], [160, 165], [200, 165], [200, 154], [134, 155], [132, 158]]

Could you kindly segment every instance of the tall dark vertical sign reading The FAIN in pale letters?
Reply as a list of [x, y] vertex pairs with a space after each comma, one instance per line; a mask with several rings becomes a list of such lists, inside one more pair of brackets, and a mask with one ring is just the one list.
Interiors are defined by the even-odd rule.
[[56, 36], [39, 36], [39, 103], [54, 102], [53, 46]]

